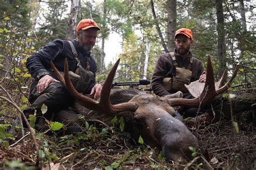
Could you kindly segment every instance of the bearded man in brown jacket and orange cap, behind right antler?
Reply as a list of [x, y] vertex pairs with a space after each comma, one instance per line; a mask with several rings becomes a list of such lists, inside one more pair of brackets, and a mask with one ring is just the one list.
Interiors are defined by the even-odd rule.
[[[190, 51], [193, 35], [190, 29], [179, 29], [175, 33], [174, 52], [161, 54], [152, 75], [152, 89], [158, 96], [183, 92], [184, 98], [193, 98], [184, 84], [199, 80], [205, 82], [203, 63], [194, 58]], [[182, 108], [179, 113], [185, 117], [197, 115], [197, 108]]]

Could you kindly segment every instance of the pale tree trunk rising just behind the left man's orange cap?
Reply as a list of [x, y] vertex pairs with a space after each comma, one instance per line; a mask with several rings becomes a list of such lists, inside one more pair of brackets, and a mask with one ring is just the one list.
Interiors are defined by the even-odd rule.
[[69, 39], [69, 40], [76, 38], [76, 23], [77, 23], [77, 13], [79, 9], [79, 3], [80, 3], [79, 0], [71, 1], [68, 29], [66, 31], [66, 39]]

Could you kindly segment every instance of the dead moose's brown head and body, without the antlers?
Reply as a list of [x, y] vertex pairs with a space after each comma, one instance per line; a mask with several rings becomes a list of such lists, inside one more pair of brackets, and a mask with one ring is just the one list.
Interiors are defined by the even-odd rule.
[[[179, 93], [170, 97], [181, 96]], [[163, 151], [167, 160], [191, 160], [192, 152], [189, 147], [199, 148], [197, 138], [185, 124], [175, 118], [175, 111], [166, 97], [153, 97], [136, 89], [113, 89], [110, 102], [134, 102], [139, 105], [135, 112], [124, 111], [118, 114], [124, 118], [125, 131], [129, 132], [135, 141], [141, 136], [146, 144], [156, 148], [156, 153]], [[87, 119], [97, 119], [108, 125], [112, 124], [111, 120], [116, 116], [107, 112], [90, 112], [78, 103], [75, 106], [77, 112], [86, 115]]]

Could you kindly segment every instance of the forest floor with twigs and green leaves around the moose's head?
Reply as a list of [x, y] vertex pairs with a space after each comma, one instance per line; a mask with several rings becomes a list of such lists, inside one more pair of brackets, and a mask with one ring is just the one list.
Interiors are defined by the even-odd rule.
[[[255, 109], [242, 111], [230, 119], [220, 117], [214, 123], [196, 121], [190, 127], [199, 140], [205, 159], [215, 169], [255, 169], [256, 168], [256, 124]], [[0, 117], [0, 124], [13, 122], [13, 118]], [[81, 119], [81, 121], [85, 121]], [[237, 126], [234, 125], [237, 123]], [[235, 128], [237, 127], [237, 128]], [[8, 132], [9, 127], [5, 127]], [[1, 130], [1, 129], [0, 129]], [[28, 133], [28, 130], [25, 130]], [[14, 136], [0, 136], [0, 168], [35, 169], [36, 150], [30, 135], [24, 140], [21, 130]], [[7, 133], [6, 133], [7, 134]], [[96, 129], [90, 125], [84, 132], [58, 137], [52, 133], [36, 133], [39, 144], [40, 165], [42, 169], [184, 169], [186, 165], [165, 162], [154, 149], [132, 140], [130, 134], [114, 127]], [[9, 147], [6, 147], [8, 142]], [[11, 146], [12, 144], [15, 144]], [[200, 165], [193, 165], [200, 169]]]

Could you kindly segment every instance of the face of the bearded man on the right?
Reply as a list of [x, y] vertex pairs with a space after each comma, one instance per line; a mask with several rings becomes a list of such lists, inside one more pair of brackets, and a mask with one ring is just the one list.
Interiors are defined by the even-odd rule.
[[178, 34], [175, 39], [175, 46], [178, 54], [185, 55], [190, 51], [190, 46], [192, 42], [190, 38], [185, 36], [184, 34]]

